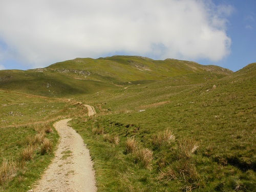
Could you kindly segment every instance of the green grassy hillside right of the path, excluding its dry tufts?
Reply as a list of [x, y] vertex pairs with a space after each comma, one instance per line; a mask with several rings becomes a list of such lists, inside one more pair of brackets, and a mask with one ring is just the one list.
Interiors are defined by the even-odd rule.
[[[254, 88], [255, 63], [220, 80], [194, 74], [103, 92], [93, 96], [97, 97], [95, 101], [81, 98], [101, 112], [87, 122], [74, 123], [91, 149], [99, 191], [172, 191], [186, 187], [252, 191], [256, 186]], [[92, 127], [118, 135], [120, 144], [92, 135]], [[152, 139], [166, 127], [176, 135], [176, 143], [154, 146]], [[153, 170], [140, 167], [133, 156], [123, 154], [125, 140], [132, 136], [154, 151]], [[159, 175], [169, 167], [185, 164], [175, 155], [184, 138], [200, 145], [186, 160], [186, 164], [195, 165], [194, 175], [198, 176], [194, 180], [159, 181]]]

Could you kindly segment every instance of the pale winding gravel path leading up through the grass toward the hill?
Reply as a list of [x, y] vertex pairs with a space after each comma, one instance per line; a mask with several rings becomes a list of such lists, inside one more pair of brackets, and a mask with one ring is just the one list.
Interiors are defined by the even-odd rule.
[[[92, 106], [85, 106], [89, 116], [95, 114]], [[63, 119], [54, 124], [60, 136], [55, 158], [31, 191], [97, 191], [89, 150], [81, 136], [68, 126], [70, 120]]]

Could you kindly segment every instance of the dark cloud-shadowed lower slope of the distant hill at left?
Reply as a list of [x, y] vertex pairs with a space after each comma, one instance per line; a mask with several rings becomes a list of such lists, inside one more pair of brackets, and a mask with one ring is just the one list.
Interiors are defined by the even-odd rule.
[[105, 82], [78, 79], [53, 71], [40, 73], [32, 70], [3, 70], [0, 71], [0, 76], [3, 78], [1, 89], [48, 97], [72, 97], [110, 87]]

